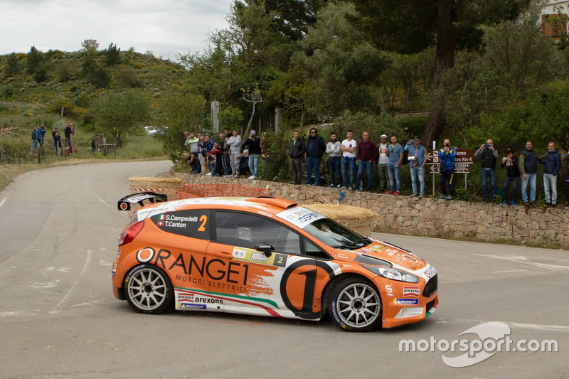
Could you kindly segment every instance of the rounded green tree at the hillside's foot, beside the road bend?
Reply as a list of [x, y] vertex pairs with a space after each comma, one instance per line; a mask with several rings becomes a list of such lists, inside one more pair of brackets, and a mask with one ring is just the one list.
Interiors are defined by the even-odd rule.
[[149, 116], [149, 100], [136, 90], [107, 91], [93, 102], [90, 113], [97, 130], [107, 138], [117, 132], [117, 146], [125, 138], [140, 134], [143, 122]]

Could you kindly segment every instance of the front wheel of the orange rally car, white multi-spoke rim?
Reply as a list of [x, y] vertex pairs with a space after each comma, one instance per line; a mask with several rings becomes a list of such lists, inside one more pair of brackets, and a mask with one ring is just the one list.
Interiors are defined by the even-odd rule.
[[331, 289], [329, 314], [346, 331], [370, 331], [381, 323], [381, 296], [363, 277], [342, 279]]

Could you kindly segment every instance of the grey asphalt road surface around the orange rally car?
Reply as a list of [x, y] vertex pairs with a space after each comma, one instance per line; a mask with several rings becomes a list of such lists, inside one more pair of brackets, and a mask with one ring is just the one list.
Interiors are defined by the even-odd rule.
[[[112, 295], [110, 268], [127, 223], [117, 200], [128, 193], [129, 176], [169, 167], [43, 169], [0, 193], [0, 378], [567, 377], [566, 251], [375, 235], [439, 272], [435, 314], [398, 329], [347, 333], [329, 320], [135, 313]], [[489, 329], [489, 322], [504, 324]], [[504, 345], [496, 352], [498, 337], [488, 338], [496, 325], [508, 329], [511, 347], [526, 340], [535, 350], [554, 340], [558, 352]], [[477, 333], [461, 335], [471, 328]], [[403, 340], [417, 351], [400, 352]], [[448, 360], [464, 351], [442, 351], [445, 342], [463, 340], [472, 356]], [[484, 356], [474, 353], [479, 343], [488, 343]]]

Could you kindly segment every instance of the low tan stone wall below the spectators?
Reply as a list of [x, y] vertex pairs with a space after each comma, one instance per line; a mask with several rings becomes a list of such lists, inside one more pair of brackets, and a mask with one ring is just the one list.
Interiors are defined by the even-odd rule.
[[[238, 183], [267, 188], [270, 196], [289, 198], [299, 204], [336, 203], [336, 188], [295, 186], [246, 178], [174, 174], [186, 183]], [[444, 237], [486, 242], [516, 242], [528, 245], [569, 248], [569, 211], [563, 208], [500, 206], [436, 198], [410, 198], [345, 191], [342, 203], [368, 208], [379, 215], [377, 232], [425, 237]], [[211, 196], [216, 196], [212, 193]]]

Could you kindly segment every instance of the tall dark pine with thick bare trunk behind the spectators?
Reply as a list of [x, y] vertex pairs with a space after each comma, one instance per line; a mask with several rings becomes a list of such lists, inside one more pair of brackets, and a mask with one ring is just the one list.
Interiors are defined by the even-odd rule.
[[429, 122], [423, 141], [437, 140], [445, 128], [440, 90], [445, 72], [454, 65], [454, 53], [477, 49], [482, 26], [519, 16], [530, 0], [351, 0], [357, 14], [347, 15], [378, 48], [418, 53], [435, 46], [435, 69]]

